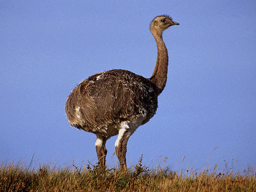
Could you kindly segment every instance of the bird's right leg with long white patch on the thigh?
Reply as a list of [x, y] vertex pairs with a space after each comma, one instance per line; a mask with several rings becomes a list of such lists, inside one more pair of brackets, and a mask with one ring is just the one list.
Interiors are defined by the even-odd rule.
[[130, 135], [132, 135], [132, 131], [126, 128], [121, 128], [119, 130], [119, 134], [115, 142], [115, 150], [116, 150], [117, 158], [119, 160], [121, 169], [124, 169], [124, 170], [127, 169], [126, 152], [127, 152], [127, 142]]

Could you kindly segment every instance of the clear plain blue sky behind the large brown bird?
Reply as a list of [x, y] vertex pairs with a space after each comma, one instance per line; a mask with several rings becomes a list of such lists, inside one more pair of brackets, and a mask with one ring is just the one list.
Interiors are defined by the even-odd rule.
[[100, 71], [150, 77], [149, 26], [161, 14], [180, 25], [163, 33], [167, 84], [157, 114], [128, 141], [128, 166], [141, 153], [149, 167], [167, 157], [172, 170], [256, 166], [255, 0], [1, 0], [0, 161], [97, 162], [96, 136], [68, 125], [66, 97]]

